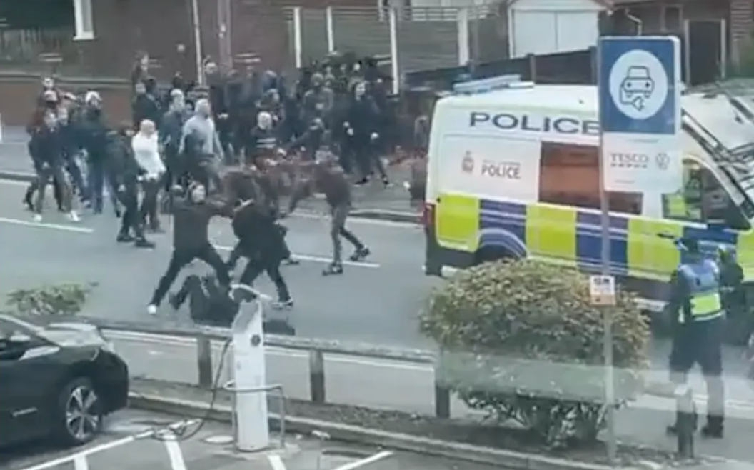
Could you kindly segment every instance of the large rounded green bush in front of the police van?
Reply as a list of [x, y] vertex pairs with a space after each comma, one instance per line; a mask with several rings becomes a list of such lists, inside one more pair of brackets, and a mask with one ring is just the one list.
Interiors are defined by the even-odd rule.
[[642, 389], [649, 328], [630, 293], [590, 304], [588, 277], [532, 260], [460, 272], [428, 298], [422, 333], [439, 379], [472, 409], [520, 422], [547, 447], [596, 440], [605, 415], [604, 312], [613, 319], [616, 404]]

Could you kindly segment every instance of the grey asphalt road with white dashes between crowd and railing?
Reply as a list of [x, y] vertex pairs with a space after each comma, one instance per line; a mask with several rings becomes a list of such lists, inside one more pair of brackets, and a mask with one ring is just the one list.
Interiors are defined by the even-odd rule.
[[[0, 207], [0, 295], [46, 283], [97, 281], [87, 315], [158, 320], [149, 318], [146, 304], [170, 258], [169, 234], [155, 235], [156, 250], [137, 250], [115, 243], [119, 221], [109, 213], [85, 214], [73, 225], [48, 210], [42, 223], [34, 223], [20, 204], [23, 191], [23, 183], [0, 181], [0, 199], [5, 201]], [[371, 247], [372, 257], [365, 263], [346, 263], [342, 276], [323, 278], [320, 273], [331, 251], [326, 220], [291, 217], [285, 223], [290, 247], [302, 261], [284, 269], [296, 300], [290, 321], [300, 336], [428, 346], [415, 316], [440, 281], [422, 275], [421, 229], [354, 219], [351, 228]], [[169, 223], [165, 226], [170, 229]], [[234, 244], [226, 220], [213, 222], [210, 234], [222, 249]], [[206, 270], [197, 262], [188, 272]], [[274, 292], [266, 278], [258, 285]], [[160, 315], [172, 315], [167, 305]]]

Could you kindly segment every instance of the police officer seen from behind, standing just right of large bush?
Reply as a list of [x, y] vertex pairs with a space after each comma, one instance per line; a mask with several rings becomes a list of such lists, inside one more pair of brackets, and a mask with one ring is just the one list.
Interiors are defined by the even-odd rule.
[[[707, 422], [702, 429], [707, 438], [722, 438], [723, 408], [722, 334], [725, 312], [720, 296], [718, 264], [704, 257], [699, 242], [681, 238], [676, 242], [685, 253], [685, 263], [670, 278], [669, 312], [673, 315], [673, 348], [670, 352], [670, 378], [685, 384], [694, 363], [700, 365], [707, 387]], [[676, 426], [669, 426], [669, 433]]]

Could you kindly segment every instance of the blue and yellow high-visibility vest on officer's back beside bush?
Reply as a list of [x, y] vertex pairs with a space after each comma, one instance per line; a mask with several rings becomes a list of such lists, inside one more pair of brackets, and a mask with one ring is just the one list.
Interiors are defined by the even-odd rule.
[[[678, 267], [691, 287], [691, 321], [710, 321], [724, 315], [720, 298], [720, 269], [713, 260], [700, 260], [697, 263], [682, 264]], [[684, 322], [684, 315], [679, 315]]]

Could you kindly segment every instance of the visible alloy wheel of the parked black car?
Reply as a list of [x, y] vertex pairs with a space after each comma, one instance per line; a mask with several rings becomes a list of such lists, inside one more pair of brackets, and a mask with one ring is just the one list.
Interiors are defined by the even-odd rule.
[[58, 397], [56, 437], [66, 445], [87, 444], [102, 428], [100, 398], [90, 379], [78, 377], [66, 383]]

